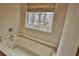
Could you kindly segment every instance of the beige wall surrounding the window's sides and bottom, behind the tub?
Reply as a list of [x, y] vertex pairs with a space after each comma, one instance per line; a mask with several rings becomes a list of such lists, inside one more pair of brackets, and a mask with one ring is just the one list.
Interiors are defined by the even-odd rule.
[[60, 40], [65, 14], [67, 10], [67, 4], [57, 4], [55, 10], [54, 21], [52, 24], [52, 33], [45, 33], [41, 31], [25, 29], [24, 27], [24, 10], [22, 12], [22, 19], [21, 19], [21, 32], [27, 35], [31, 35], [33, 37], [40, 38], [42, 40], [46, 40], [48, 42], [57, 44]]

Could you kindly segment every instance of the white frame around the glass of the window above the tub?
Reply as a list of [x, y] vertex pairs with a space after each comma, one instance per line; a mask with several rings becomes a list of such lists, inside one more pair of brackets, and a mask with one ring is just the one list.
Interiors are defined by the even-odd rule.
[[[50, 26], [49, 26], [49, 30], [47, 30], [47, 29], [44, 29], [43, 27], [41, 27], [41, 26], [39, 26], [39, 27], [41, 27], [41, 28], [35, 28], [35, 26], [29, 26], [28, 25], [28, 16], [29, 16], [29, 12], [39, 12], [39, 16], [40, 16], [40, 12], [51, 12], [52, 14], [52, 19], [51, 19], [51, 22], [50, 22]], [[46, 15], [48, 15], [48, 14], [46, 14]], [[45, 15], [45, 18], [46, 18], [46, 15]], [[51, 33], [52, 32], [52, 23], [53, 23], [53, 17], [54, 17], [54, 12], [53, 11], [27, 11], [26, 12], [26, 14], [25, 14], [25, 28], [28, 28], [28, 29], [32, 29], [32, 30], [37, 30], [37, 31], [42, 31], [42, 32], [47, 32], [47, 33]], [[39, 19], [40, 19], [40, 17], [39, 17]]]

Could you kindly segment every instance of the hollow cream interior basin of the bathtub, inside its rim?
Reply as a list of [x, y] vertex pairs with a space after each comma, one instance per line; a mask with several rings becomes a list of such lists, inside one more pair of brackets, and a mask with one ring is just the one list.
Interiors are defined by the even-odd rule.
[[16, 38], [16, 46], [22, 48], [25, 52], [28, 51], [31, 55], [51, 56], [56, 53], [54, 47], [49, 48], [48, 46], [23, 37]]

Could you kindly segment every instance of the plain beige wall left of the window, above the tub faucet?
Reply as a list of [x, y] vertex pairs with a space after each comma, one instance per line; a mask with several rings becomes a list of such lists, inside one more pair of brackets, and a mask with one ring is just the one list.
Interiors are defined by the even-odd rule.
[[8, 33], [9, 27], [18, 32], [19, 21], [20, 4], [0, 4], [0, 35]]

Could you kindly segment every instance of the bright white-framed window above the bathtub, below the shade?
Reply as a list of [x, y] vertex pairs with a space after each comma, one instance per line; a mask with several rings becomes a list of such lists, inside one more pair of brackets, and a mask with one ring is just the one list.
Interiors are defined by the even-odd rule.
[[51, 32], [54, 12], [26, 12], [25, 27], [43, 32]]

